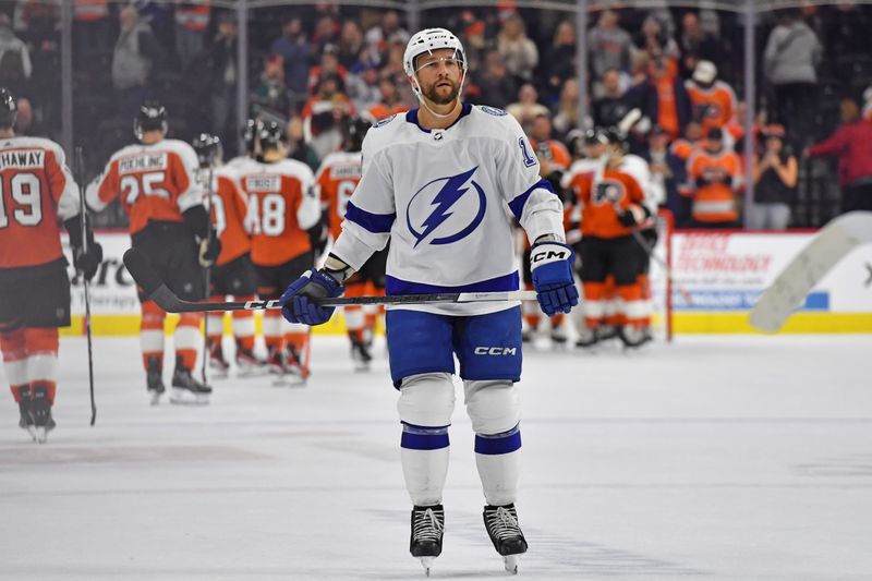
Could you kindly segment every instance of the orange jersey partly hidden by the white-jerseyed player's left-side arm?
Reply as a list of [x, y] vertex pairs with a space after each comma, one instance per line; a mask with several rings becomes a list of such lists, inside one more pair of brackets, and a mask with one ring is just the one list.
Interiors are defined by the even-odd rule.
[[315, 189], [322, 211], [328, 216], [330, 237], [339, 238], [351, 194], [361, 181], [363, 156], [360, 152], [337, 152], [324, 158], [315, 174]]

